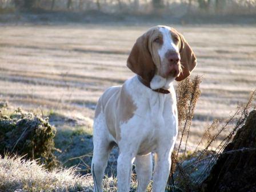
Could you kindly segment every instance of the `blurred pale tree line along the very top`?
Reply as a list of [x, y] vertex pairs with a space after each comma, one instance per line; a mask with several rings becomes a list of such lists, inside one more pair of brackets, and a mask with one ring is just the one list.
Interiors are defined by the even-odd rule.
[[[0, 7], [13, 5], [15, 10], [30, 11], [67, 10], [86, 11], [99, 10], [110, 13], [134, 12], [152, 13], [164, 12], [185, 7], [186, 13], [224, 13], [239, 12], [243, 14], [256, 13], [256, 0], [0, 0]], [[184, 11], [184, 9], [182, 9]]]

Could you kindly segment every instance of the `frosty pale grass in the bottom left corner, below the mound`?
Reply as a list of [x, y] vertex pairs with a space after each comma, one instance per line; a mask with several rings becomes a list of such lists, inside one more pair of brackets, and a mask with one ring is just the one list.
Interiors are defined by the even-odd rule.
[[90, 176], [76, 174], [70, 169], [47, 171], [35, 160], [0, 156], [0, 191], [93, 191]]

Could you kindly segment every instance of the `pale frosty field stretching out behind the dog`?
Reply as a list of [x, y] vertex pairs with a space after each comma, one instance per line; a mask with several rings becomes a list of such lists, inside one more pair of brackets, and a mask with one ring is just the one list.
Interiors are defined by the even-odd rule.
[[[135, 39], [149, 27], [0, 26], [0, 100], [91, 121], [103, 91], [134, 75], [126, 59]], [[214, 118], [228, 118], [255, 89], [256, 27], [173, 27], [197, 55], [193, 75], [203, 77], [189, 141], [193, 148]]]

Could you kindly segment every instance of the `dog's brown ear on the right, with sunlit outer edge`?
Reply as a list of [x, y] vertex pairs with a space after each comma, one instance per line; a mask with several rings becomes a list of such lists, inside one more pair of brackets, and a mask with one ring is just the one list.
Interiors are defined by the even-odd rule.
[[193, 50], [191, 49], [189, 43], [187, 43], [183, 35], [178, 32], [177, 34], [181, 39], [179, 54], [181, 54], [182, 73], [177, 78], [175, 78], [175, 80], [182, 81], [183, 79], [189, 77], [190, 73], [197, 65], [197, 58], [195, 57]]

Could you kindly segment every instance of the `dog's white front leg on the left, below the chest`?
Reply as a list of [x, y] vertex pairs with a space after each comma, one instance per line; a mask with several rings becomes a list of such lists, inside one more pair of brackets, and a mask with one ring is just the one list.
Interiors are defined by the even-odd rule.
[[118, 192], [129, 192], [131, 182], [131, 165], [134, 157], [131, 153], [119, 154], [117, 159], [117, 188]]

